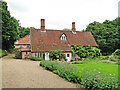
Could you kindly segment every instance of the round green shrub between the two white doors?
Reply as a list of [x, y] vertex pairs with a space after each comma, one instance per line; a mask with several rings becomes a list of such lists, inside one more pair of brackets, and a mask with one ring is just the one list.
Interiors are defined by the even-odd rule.
[[51, 51], [49, 56], [52, 60], [61, 60], [62, 58], [65, 59], [65, 54], [61, 50]]

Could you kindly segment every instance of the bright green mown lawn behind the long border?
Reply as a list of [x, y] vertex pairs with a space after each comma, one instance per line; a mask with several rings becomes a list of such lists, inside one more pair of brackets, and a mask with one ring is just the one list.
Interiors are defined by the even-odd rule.
[[115, 74], [118, 76], [118, 65], [111, 63], [85, 63], [85, 64], [71, 64], [76, 66], [78, 69], [84, 71], [97, 71], [103, 74]]

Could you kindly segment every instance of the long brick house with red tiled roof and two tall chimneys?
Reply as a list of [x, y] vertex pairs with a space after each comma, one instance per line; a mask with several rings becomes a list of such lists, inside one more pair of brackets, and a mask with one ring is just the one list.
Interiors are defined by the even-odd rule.
[[29, 56], [43, 57], [44, 52], [45, 60], [49, 60], [50, 51], [61, 50], [65, 53], [67, 61], [78, 57], [72, 56], [71, 48], [74, 45], [97, 47], [91, 32], [76, 31], [75, 22], [72, 22], [72, 31], [51, 30], [45, 29], [44, 19], [41, 19], [41, 29], [30, 29], [29, 35], [17, 40], [14, 45], [22, 52], [22, 58], [25, 58], [25, 55], [28, 58]]

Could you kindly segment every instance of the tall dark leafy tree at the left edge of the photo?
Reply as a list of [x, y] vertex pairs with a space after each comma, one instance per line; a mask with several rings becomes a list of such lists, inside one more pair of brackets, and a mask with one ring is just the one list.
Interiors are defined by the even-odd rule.
[[18, 21], [10, 15], [5, 1], [2, 3], [2, 48], [8, 50], [14, 45], [14, 41], [19, 39]]

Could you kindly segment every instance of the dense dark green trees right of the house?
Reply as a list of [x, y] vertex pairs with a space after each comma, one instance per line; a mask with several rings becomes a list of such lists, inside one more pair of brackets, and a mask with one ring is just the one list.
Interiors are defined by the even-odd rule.
[[120, 46], [119, 19], [105, 20], [103, 23], [94, 21], [84, 30], [92, 33], [103, 55], [112, 54]]

